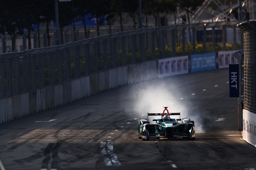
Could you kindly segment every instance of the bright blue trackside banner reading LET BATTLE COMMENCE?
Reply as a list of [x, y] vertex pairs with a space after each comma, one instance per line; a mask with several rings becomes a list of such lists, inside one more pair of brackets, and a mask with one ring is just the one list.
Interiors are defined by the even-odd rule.
[[216, 53], [191, 55], [190, 69], [191, 72], [216, 69]]

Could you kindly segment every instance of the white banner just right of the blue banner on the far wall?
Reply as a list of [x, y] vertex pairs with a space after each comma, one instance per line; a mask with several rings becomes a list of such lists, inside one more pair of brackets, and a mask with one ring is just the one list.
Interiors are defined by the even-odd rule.
[[219, 69], [228, 68], [229, 64], [238, 64], [238, 59], [232, 54], [236, 51], [219, 51], [218, 52], [218, 66]]

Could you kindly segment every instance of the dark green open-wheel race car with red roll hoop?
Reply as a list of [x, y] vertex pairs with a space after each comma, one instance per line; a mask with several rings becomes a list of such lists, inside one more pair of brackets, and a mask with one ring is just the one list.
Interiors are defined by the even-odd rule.
[[[163, 113], [148, 113], [148, 116], [161, 116], [161, 119], [153, 119], [150, 123], [148, 119], [139, 119], [139, 138], [142, 140], [150, 139], [173, 139], [177, 137], [194, 140], [196, 131], [194, 121], [190, 118], [174, 119], [173, 115], [180, 116], [180, 113], [169, 113], [168, 107], [164, 107]], [[167, 111], [167, 113], [165, 113]]]

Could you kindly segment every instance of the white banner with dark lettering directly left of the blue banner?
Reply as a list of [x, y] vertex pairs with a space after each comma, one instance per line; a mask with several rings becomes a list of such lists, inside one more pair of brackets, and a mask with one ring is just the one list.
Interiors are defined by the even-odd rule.
[[159, 78], [188, 73], [188, 56], [158, 60]]

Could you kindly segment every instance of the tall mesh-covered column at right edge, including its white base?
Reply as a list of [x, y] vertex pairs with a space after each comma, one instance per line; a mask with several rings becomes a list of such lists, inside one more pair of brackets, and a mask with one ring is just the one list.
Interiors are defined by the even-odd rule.
[[244, 104], [243, 104], [243, 139], [256, 143], [256, 20], [249, 20], [237, 25], [244, 33]]

